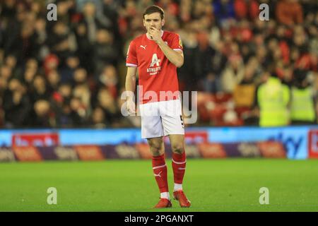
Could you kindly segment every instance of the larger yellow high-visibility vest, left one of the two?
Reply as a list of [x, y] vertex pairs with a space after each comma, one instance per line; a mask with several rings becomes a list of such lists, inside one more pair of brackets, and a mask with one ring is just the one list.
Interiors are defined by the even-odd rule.
[[257, 90], [260, 116], [259, 126], [286, 126], [289, 123], [289, 88], [278, 78], [269, 78]]

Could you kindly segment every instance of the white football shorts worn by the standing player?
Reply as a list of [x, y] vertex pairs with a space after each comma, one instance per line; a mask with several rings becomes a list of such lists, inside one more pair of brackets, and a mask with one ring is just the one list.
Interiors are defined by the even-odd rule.
[[141, 138], [184, 134], [181, 100], [149, 102], [139, 105]]

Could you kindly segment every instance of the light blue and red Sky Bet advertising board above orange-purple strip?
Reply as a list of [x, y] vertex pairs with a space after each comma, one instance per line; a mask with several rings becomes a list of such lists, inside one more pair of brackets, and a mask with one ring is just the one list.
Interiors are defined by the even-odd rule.
[[[60, 129], [1, 130], [1, 147], [50, 147], [69, 145], [118, 145], [145, 143], [140, 129]], [[318, 126], [275, 128], [235, 127], [186, 130], [186, 143], [249, 143], [276, 141], [282, 143], [289, 159], [318, 158]], [[168, 142], [168, 139], [165, 141]]]

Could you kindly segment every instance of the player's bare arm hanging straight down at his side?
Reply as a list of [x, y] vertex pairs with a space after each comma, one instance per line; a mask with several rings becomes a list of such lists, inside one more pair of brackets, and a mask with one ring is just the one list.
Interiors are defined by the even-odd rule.
[[136, 67], [127, 67], [127, 74], [126, 74], [126, 93], [127, 93], [127, 110], [129, 113], [135, 113], [135, 100], [134, 100], [134, 92], [136, 88]]

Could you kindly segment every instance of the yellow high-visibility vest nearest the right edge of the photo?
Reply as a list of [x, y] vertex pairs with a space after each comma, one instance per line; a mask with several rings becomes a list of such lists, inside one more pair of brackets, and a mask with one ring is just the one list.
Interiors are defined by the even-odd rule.
[[292, 88], [290, 103], [290, 119], [297, 121], [310, 121], [315, 119], [314, 100], [312, 89]]

